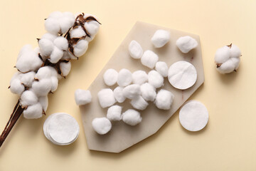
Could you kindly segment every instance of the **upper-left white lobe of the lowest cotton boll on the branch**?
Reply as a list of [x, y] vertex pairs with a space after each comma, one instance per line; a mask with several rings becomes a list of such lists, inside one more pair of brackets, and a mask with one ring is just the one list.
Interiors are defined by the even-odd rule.
[[21, 105], [34, 105], [38, 102], [37, 95], [32, 90], [26, 90], [21, 94]]

